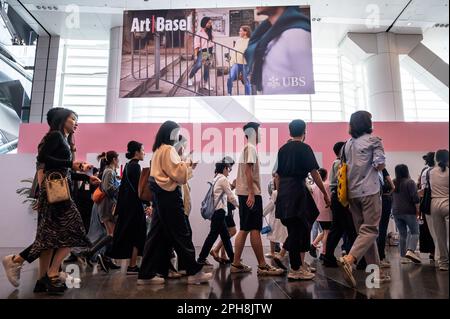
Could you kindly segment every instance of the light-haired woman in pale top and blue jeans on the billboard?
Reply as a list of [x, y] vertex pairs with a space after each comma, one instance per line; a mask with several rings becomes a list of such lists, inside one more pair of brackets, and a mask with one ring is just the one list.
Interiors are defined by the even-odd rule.
[[[247, 62], [245, 61], [243, 53], [247, 50], [248, 42], [252, 35], [252, 31], [249, 26], [243, 25], [239, 29], [239, 39], [234, 45], [236, 51], [230, 52], [230, 74], [228, 75], [227, 88], [228, 95], [232, 95], [233, 82], [239, 78], [239, 74], [242, 74], [243, 82], [245, 86], [245, 95], [251, 94], [250, 80], [248, 79]], [[242, 52], [242, 53], [241, 53]]]

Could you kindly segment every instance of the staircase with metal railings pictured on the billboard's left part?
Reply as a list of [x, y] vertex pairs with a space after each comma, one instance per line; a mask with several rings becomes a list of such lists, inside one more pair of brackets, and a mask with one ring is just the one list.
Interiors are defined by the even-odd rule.
[[[213, 48], [209, 80], [203, 83], [204, 67], [189, 81], [195, 64], [195, 38]], [[131, 54], [122, 57], [121, 97], [226, 96], [231, 57], [242, 55], [233, 48], [203, 38], [190, 31], [163, 31], [151, 40], [133, 34]], [[240, 77], [242, 78], [242, 76]], [[194, 80], [195, 79], [195, 80]], [[190, 83], [192, 82], [192, 83]], [[242, 80], [232, 84], [232, 95], [244, 95]]]

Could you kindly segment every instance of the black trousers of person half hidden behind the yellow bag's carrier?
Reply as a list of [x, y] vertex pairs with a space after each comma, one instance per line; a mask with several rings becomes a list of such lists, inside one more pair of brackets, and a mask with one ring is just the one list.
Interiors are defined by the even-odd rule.
[[328, 233], [325, 260], [336, 262], [334, 251], [342, 236], [347, 236], [347, 245], [349, 247], [345, 248], [346, 251], [349, 252], [356, 239], [356, 230], [351, 213], [347, 208], [341, 205], [336, 192], [331, 193], [331, 213], [333, 215], [333, 221], [331, 223], [330, 232]]

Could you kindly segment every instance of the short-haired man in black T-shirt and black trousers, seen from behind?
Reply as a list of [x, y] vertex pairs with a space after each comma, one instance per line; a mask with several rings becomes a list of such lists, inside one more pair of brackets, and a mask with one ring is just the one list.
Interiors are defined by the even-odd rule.
[[280, 219], [288, 230], [287, 248], [291, 270], [290, 280], [311, 280], [314, 274], [304, 262], [304, 255], [310, 248], [311, 227], [319, 211], [311, 193], [306, 187], [305, 179], [311, 174], [314, 182], [322, 192], [325, 202], [330, 199], [317, 170], [316, 157], [305, 140], [306, 123], [294, 120], [289, 124], [292, 139], [278, 151], [277, 174], [278, 196], [276, 201], [276, 218]]

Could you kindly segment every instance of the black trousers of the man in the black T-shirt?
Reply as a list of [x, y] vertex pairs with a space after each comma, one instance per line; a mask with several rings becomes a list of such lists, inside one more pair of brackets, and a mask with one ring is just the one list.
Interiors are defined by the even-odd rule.
[[289, 251], [291, 269], [298, 270], [302, 265], [300, 253], [307, 252], [310, 248], [310, 227], [298, 217], [283, 219], [281, 223], [286, 226], [288, 231], [286, 244]]

